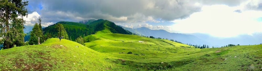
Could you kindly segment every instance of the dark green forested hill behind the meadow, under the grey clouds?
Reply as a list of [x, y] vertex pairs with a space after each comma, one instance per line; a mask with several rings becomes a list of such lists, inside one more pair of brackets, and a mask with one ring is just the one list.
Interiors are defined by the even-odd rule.
[[[117, 26], [111, 21], [108, 20], [95, 20], [88, 24], [76, 23], [76, 22], [68, 22], [68, 21], [60, 21], [69, 36], [69, 39], [73, 41], [79, 36], [87, 36], [90, 34], [95, 34], [97, 31], [101, 30], [109, 30], [110, 33], [119, 33], [119, 34], [132, 34], [132, 32], [124, 30], [122, 27]], [[57, 24], [57, 23], [56, 23]], [[55, 24], [50, 25], [43, 29], [44, 34], [50, 33], [52, 37], [57, 37], [57, 30], [55, 29]]]

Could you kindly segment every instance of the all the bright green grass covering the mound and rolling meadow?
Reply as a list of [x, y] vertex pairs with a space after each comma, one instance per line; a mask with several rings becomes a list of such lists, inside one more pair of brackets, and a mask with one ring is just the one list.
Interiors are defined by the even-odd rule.
[[112, 34], [107, 29], [84, 39], [85, 46], [52, 38], [41, 45], [1, 50], [0, 71], [262, 70], [262, 45], [199, 49], [165, 39]]

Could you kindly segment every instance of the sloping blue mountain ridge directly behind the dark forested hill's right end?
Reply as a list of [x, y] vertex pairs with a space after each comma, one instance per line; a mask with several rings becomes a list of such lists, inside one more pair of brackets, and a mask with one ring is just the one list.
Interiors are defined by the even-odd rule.
[[203, 44], [209, 44], [208, 42], [199, 39], [198, 37], [194, 36], [194, 35], [187, 35], [187, 34], [180, 34], [180, 33], [170, 33], [167, 32], [166, 30], [151, 30], [149, 28], [146, 27], [141, 27], [141, 28], [137, 28], [137, 29], [132, 29], [132, 28], [126, 28], [121, 26], [122, 28], [140, 34], [140, 35], [144, 35], [144, 36], [154, 36], [154, 37], [161, 37], [161, 38], [167, 38], [167, 39], [174, 39], [177, 41], [180, 41], [182, 43], [191, 43], [191, 44], [198, 44], [198, 45], [203, 45]]

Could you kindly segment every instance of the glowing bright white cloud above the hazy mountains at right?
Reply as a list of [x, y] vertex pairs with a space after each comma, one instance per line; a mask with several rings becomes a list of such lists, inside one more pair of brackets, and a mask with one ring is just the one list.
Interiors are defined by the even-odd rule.
[[262, 32], [261, 11], [243, 10], [243, 6], [229, 7], [226, 5], [203, 6], [201, 12], [190, 15], [187, 19], [174, 20], [172, 30], [182, 33], [208, 33], [218, 37], [233, 37], [239, 34]]

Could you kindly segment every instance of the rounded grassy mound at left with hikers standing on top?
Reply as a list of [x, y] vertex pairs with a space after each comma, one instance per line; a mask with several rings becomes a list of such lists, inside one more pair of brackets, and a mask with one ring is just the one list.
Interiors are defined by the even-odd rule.
[[[7, 70], [114, 70], [115, 59], [79, 43], [57, 38], [42, 45], [14, 47], [0, 51], [0, 71]], [[61, 46], [62, 45], [62, 46]]]

